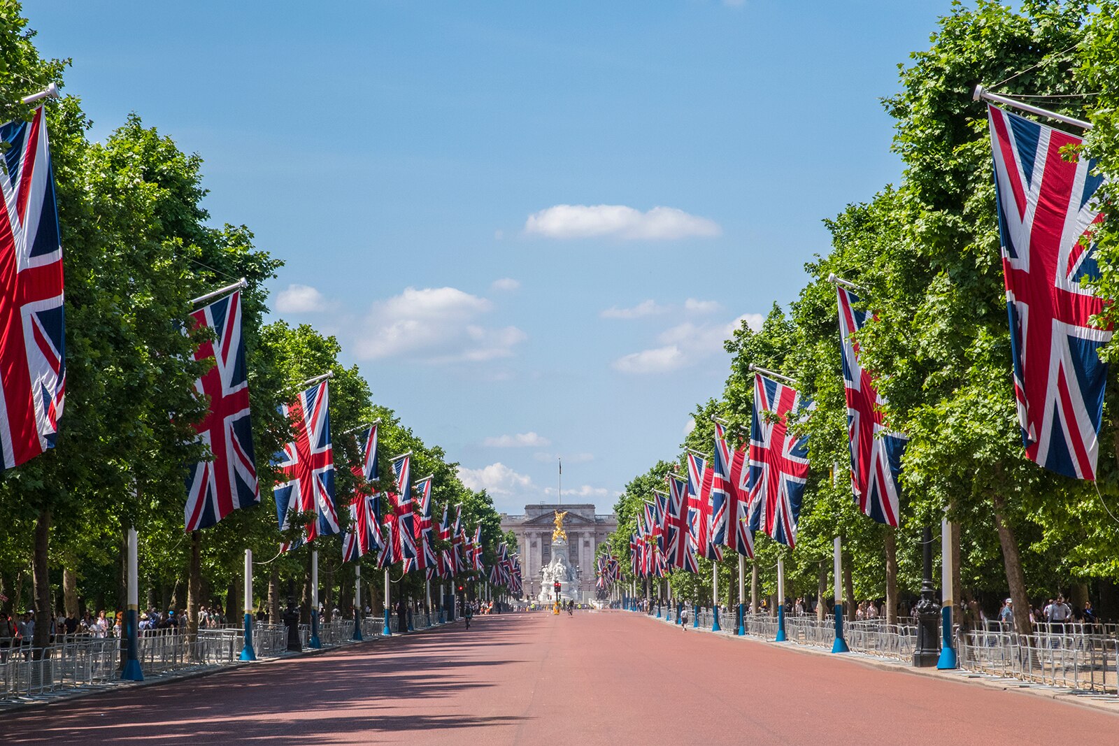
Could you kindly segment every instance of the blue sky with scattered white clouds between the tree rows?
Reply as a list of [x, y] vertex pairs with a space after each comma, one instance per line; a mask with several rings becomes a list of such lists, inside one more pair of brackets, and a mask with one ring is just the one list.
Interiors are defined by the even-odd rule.
[[[276, 317], [499, 510], [608, 512], [673, 457], [722, 340], [896, 181], [878, 98], [949, 0], [27, 2], [103, 138], [198, 152]], [[839, 375], [839, 371], [836, 371]]]

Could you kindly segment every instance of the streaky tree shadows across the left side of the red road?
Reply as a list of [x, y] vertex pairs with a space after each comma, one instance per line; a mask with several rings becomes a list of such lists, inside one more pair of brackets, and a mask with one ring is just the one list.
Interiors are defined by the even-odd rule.
[[359, 734], [516, 724], [525, 718], [430, 711], [440, 699], [493, 686], [487, 674], [491, 667], [518, 662], [493, 657], [495, 649], [516, 645], [523, 636], [511, 629], [513, 621], [487, 617], [476, 620], [469, 631], [455, 626], [396, 635], [321, 655], [29, 709], [4, 718], [0, 738], [21, 744], [266, 739], [298, 746], [360, 740]]

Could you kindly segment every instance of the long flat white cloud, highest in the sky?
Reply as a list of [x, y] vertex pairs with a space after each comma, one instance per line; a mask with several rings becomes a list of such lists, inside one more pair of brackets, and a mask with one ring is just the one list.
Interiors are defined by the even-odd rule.
[[653, 207], [647, 213], [626, 205], [555, 205], [525, 220], [525, 233], [547, 238], [609, 236], [624, 240], [708, 238], [723, 233], [708, 218], [675, 207]]

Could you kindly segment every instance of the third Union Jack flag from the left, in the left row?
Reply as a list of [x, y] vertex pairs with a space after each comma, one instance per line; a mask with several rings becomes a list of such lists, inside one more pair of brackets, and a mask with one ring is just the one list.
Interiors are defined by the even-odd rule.
[[[328, 381], [314, 384], [280, 413], [291, 422], [295, 440], [276, 454], [276, 465], [286, 478], [273, 490], [280, 529], [290, 528], [289, 516], [314, 511], [303, 533], [303, 541], [338, 533], [335, 508], [335, 456], [330, 444], [330, 394]], [[294, 548], [302, 541], [293, 544]]]

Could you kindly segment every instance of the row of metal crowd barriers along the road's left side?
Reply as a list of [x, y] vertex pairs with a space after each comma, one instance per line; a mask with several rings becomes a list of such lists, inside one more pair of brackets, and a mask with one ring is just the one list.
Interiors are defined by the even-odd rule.
[[[431, 625], [439, 625], [434, 614]], [[385, 621], [383, 616], [366, 616], [360, 626], [363, 639], [372, 640], [380, 636]], [[426, 627], [426, 617], [416, 615], [413, 626]], [[389, 617], [389, 631], [399, 632], [395, 614]], [[301, 624], [304, 650], [310, 638], [310, 626]], [[241, 662], [244, 642], [245, 633], [241, 627], [204, 629], [194, 639], [185, 631], [143, 630], [139, 638], [140, 670], [147, 677], [232, 665]], [[323, 648], [355, 642], [354, 620], [321, 623], [319, 642]], [[258, 659], [265, 660], [290, 654], [288, 630], [281, 624], [254, 623], [253, 649]], [[29, 645], [0, 648], [0, 702], [117, 681], [122, 659], [122, 643], [117, 638], [59, 635], [53, 645], [41, 650]]]

